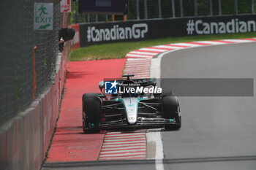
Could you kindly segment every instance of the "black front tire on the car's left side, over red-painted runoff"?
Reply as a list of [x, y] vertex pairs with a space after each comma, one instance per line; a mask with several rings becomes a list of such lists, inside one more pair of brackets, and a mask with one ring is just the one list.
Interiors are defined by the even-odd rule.
[[98, 132], [99, 130], [86, 129], [90, 125], [97, 126], [100, 122], [102, 102], [96, 96], [98, 93], [83, 94], [83, 131], [85, 133]]

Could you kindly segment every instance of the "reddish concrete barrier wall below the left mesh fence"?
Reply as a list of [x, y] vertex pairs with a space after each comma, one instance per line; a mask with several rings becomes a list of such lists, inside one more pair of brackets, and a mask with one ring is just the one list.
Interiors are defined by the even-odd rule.
[[52, 85], [24, 112], [1, 125], [0, 169], [39, 170], [59, 115], [61, 91], [67, 70], [67, 50], [56, 58]]

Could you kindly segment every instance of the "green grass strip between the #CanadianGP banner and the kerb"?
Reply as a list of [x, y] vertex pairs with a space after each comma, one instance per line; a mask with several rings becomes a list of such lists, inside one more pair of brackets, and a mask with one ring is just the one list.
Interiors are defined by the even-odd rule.
[[69, 55], [69, 61], [87, 61], [102, 60], [110, 58], [124, 58], [132, 50], [142, 47], [151, 47], [154, 45], [166, 45], [177, 42], [195, 42], [216, 39], [242, 39], [256, 37], [256, 33], [243, 34], [216, 34], [203, 36], [185, 36], [185, 37], [168, 37], [165, 39], [152, 39], [140, 42], [118, 42], [105, 45], [91, 45], [89, 47], [80, 47], [78, 50], [72, 50]]

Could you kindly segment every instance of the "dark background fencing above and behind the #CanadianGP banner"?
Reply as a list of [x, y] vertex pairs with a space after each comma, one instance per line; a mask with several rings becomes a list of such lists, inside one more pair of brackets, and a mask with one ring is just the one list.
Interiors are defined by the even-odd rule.
[[[75, 8], [77, 4], [73, 2]], [[254, 14], [256, 0], [128, 0], [127, 20]], [[111, 15], [72, 15], [75, 23], [111, 21]], [[123, 20], [116, 16], [116, 20]]]

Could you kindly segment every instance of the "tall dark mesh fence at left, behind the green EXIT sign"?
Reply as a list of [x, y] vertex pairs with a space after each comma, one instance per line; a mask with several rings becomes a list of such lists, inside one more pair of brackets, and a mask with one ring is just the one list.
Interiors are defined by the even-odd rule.
[[[50, 77], [55, 74], [59, 29], [63, 21], [59, 1], [40, 1], [53, 3], [52, 31], [34, 31], [34, 3], [38, 1], [1, 1], [0, 124], [29, 107], [34, 96], [38, 97], [52, 84]], [[36, 91], [33, 96], [34, 70]]]

